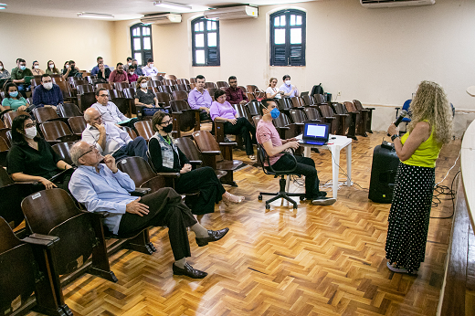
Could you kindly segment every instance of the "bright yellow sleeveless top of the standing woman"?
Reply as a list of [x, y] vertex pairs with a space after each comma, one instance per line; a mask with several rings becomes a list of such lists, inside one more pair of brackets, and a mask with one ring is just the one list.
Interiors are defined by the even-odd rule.
[[[401, 137], [401, 142], [403, 145], [406, 142], [407, 137], [409, 137], [408, 132], [406, 132], [406, 134]], [[401, 163], [417, 165], [419, 167], [435, 168], [436, 161], [438, 159], [438, 153], [440, 153], [441, 148], [442, 146], [438, 145], [434, 139], [434, 129], [432, 129], [428, 140], [426, 142], [422, 142], [417, 148], [416, 152], [414, 152], [412, 156], [410, 156], [405, 162]]]

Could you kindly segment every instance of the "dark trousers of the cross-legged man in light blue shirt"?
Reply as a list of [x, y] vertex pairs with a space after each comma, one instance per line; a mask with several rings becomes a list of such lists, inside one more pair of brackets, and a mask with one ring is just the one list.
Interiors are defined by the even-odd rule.
[[174, 189], [165, 187], [143, 196], [140, 202], [149, 206], [149, 214], [138, 216], [125, 213], [121, 218], [119, 235], [139, 231], [148, 226], [167, 226], [174, 259], [191, 257], [186, 227], [194, 226], [197, 222], [188, 206], [183, 203], [182, 196]]

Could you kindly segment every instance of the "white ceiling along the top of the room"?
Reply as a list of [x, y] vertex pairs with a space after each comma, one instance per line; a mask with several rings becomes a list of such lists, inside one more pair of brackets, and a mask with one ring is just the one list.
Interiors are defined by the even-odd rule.
[[[252, 0], [252, 5], [279, 5], [312, 0]], [[248, 2], [235, 2], [227, 0], [171, 0], [171, 2], [192, 5], [193, 10], [179, 11], [175, 13], [205, 11], [208, 7], [216, 5], [248, 4]], [[68, 18], [78, 17], [79, 12], [90, 12], [113, 15], [112, 20], [129, 20], [140, 18], [145, 15], [170, 12], [170, 9], [162, 9], [153, 5], [153, 0], [0, 0], [7, 5], [6, 10], [0, 14], [16, 13], [31, 16], [56, 16]], [[94, 19], [94, 18], [92, 18]]]

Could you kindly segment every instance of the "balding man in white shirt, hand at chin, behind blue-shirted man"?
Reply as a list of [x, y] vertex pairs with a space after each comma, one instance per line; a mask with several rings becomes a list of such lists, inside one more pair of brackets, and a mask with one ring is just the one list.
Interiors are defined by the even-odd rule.
[[111, 154], [115, 159], [139, 156], [148, 161], [147, 142], [142, 136], [134, 140], [128, 132], [113, 123], [103, 122], [102, 115], [94, 108], [84, 111], [86, 129], [82, 132], [82, 141], [95, 144], [100, 153]]

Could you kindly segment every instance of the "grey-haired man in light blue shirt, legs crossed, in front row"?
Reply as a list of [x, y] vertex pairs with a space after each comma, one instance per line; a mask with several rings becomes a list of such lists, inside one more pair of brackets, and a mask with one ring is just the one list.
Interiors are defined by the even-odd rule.
[[[109, 212], [104, 224], [113, 234], [129, 234], [149, 226], [167, 226], [174, 253], [174, 275], [194, 279], [207, 273], [186, 262], [191, 257], [186, 227], [195, 233], [199, 247], [224, 237], [229, 228], [206, 230], [174, 189], [165, 187], [142, 198], [131, 196], [135, 189], [131, 177], [122, 173], [109, 154], [103, 157], [87, 142], [76, 142], [70, 149], [71, 159], [78, 169], [72, 174], [69, 191], [90, 212]], [[101, 160], [104, 163], [100, 163]]]

